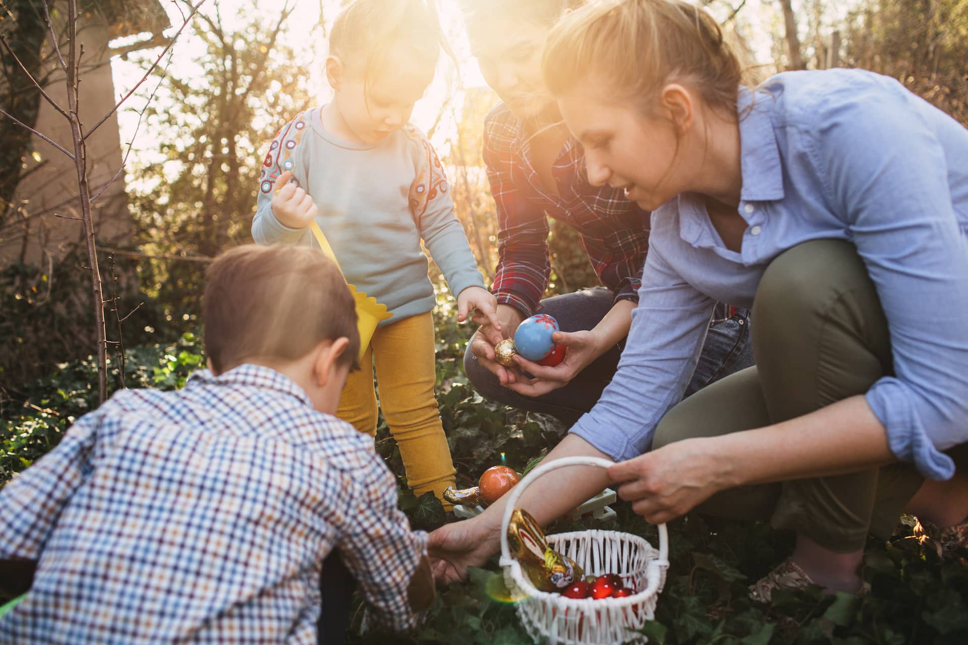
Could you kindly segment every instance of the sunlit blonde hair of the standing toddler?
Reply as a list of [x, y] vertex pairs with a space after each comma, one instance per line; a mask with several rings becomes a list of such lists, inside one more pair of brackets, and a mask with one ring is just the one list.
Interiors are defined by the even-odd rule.
[[431, 68], [443, 49], [456, 65], [440, 27], [436, 0], [353, 0], [336, 17], [329, 35], [330, 54], [345, 64], [363, 59], [364, 91], [373, 86], [397, 47]]

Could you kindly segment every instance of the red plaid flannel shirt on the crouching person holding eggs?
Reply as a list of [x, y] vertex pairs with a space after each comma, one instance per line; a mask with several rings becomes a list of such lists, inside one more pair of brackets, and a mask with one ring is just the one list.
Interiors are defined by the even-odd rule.
[[523, 124], [499, 103], [484, 121], [483, 157], [498, 209], [498, 302], [533, 313], [551, 273], [546, 215], [575, 228], [591, 266], [616, 300], [638, 302], [649, 250], [650, 213], [610, 186], [589, 183], [585, 151], [574, 139], [552, 167], [558, 195], [546, 191], [529, 160]]

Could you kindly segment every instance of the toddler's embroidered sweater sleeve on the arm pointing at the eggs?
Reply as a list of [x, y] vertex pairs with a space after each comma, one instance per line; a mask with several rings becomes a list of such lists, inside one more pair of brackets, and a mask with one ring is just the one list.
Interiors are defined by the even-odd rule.
[[450, 186], [437, 153], [423, 132], [408, 126], [414, 143], [416, 177], [409, 203], [424, 246], [456, 297], [469, 286], [484, 287], [464, 226], [454, 215]]

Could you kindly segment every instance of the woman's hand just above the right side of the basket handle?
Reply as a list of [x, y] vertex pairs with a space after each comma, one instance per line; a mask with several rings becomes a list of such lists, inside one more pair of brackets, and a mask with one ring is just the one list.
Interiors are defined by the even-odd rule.
[[714, 450], [717, 438], [683, 439], [608, 469], [619, 497], [652, 524], [688, 513], [711, 495], [735, 485], [734, 459]]

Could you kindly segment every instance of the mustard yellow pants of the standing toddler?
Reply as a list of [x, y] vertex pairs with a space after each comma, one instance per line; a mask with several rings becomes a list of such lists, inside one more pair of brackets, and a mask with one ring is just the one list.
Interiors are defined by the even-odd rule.
[[428, 311], [378, 327], [360, 369], [350, 372], [337, 416], [360, 432], [377, 434], [377, 367], [379, 406], [400, 448], [407, 483], [420, 496], [437, 497], [454, 485], [454, 463], [443, 433], [434, 385], [434, 318]]

